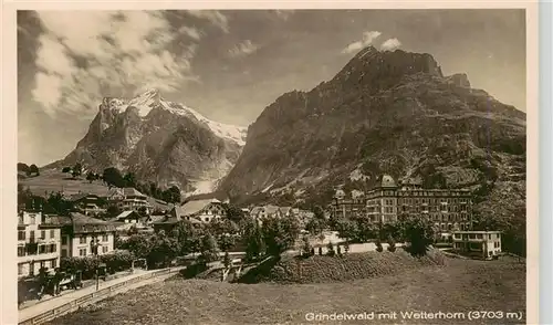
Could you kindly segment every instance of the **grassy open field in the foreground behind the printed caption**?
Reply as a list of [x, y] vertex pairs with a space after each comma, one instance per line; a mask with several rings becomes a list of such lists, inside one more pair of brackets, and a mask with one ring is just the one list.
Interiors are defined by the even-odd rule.
[[[449, 259], [447, 262], [446, 266], [341, 283], [171, 280], [129, 291], [52, 324], [320, 324], [328, 322], [309, 322], [305, 314], [525, 311], [524, 264]], [[347, 324], [523, 324], [524, 319], [406, 321], [398, 316], [387, 322]]]

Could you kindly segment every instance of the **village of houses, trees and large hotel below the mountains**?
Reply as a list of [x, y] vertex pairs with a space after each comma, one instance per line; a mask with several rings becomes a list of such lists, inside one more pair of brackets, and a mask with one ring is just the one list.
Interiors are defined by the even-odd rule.
[[[71, 206], [65, 216], [45, 213], [42, 205], [48, 202], [35, 196], [20, 202], [21, 308], [62, 290], [80, 290], [86, 281], [97, 287], [100, 280], [145, 270], [180, 266], [194, 277], [210, 268], [230, 271], [275, 254], [393, 251], [405, 245], [397, 226], [405, 218], [434, 229], [424, 250], [434, 245], [481, 260], [502, 254], [499, 231], [474, 229], [470, 191], [424, 189], [419, 181], [396, 182], [389, 175], [382, 175], [366, 193], [337, 189], [327, 206], [313, 211], [274, 205], [238, 208], [215, 198], [167, 205], [135, 188], [62, 200]], [[118, 213], [105, 218], [114, 207]]]

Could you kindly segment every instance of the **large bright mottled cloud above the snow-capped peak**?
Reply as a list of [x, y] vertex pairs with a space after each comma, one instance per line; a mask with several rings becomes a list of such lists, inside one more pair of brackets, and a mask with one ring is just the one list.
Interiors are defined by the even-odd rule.
[[181, 27], [190, 40], [176, 40], [160, 12], [44, 11], [38, 17], [44, 31], [32, 96], [51, 116], [96, 107], [104, 96], [149, 87], [170, 92], [197, 80], [190, 60], [201, 33]]

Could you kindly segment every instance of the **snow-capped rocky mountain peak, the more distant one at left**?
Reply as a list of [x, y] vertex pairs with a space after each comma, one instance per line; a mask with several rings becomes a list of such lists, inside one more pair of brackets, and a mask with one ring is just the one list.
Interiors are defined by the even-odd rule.
[[237, 161], [244, 138], [246, 128], [212, 122], [150, 90], [132, 99], [104, 98], [76, 148], [48, 167], [117, 167], [139, 180], [209, 192]]

